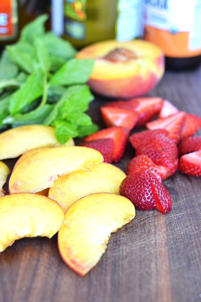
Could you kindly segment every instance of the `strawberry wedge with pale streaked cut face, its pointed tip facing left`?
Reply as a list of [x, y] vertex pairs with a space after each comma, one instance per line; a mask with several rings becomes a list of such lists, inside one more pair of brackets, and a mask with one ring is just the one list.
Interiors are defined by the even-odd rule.
[[181, 138], [181, 130], [186, 119], [186, 112], [179, 111], [173, 115], [158, 120], [153, 120], [146, 124], [149, 130], [154, 129], [166, 129], [169, 131], [168, 137], [173, 140], [174, 143], [178, 143]]

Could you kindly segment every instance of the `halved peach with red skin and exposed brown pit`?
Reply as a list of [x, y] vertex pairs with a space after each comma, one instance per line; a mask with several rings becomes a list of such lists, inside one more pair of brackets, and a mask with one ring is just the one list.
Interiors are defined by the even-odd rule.
[[[117, 55], [117, 50], [120, 52], [121, 49], [127, 50], [129, 54]], [[76, 58], [95, 60], [88, 84], [93, 91], [112, 98], [144, 95], [159, 82], [164, 73], [162, 51], [144, 40], [95, 43], [83, 48]]]

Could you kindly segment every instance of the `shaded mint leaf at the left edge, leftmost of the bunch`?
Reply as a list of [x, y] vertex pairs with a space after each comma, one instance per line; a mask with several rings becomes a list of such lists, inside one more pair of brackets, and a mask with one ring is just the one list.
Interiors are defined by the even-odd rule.
[[17, 76], [18, 67], [14, 64], [6, 50], [3, 51], [0, 59], [0, 80], [10, 80]]

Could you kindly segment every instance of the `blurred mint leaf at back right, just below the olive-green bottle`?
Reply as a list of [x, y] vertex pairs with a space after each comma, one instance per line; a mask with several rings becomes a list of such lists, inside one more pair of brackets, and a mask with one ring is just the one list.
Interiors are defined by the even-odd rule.
[[54, 33], [49, 32], [42, 37], [49, 54], [61, 57], [65, 60], [71, 59], [76, 54], [76, 50], [71, 43], [55, 36]]

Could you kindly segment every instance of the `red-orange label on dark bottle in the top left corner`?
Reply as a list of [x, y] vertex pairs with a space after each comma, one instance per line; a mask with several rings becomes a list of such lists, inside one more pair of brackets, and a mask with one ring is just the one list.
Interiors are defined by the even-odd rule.
[[14, 40], [18, 32], [17, 0], [0, 2], [0, 40]]

